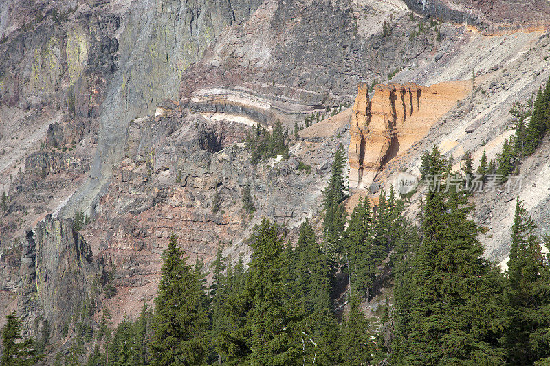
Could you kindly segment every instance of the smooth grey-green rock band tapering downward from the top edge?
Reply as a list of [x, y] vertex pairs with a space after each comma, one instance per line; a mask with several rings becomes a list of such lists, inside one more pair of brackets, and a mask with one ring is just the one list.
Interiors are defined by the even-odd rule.
[[163, 98], [176, 100], [181, 74], [197, 62], [225, 27], [239, 24], [258, 0], [133, 2], [121, 24], [118, 69], [102, 104], [98, 146], [91, 178], [61, 211], [89, 209], [104, 192], [113, 165], [122, 158], [132, 119], [155, 112]]

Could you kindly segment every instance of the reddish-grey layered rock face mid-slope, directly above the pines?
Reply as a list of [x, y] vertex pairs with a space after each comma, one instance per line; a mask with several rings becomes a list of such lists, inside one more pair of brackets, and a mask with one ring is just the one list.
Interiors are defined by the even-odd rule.
[[[346, 129], [342, 125], [334, 135]], [[131, 122], [124, 158], [98, 201], [94, 222], [82, 231], [94, 254], [117, 268], [118, 292], [106, 302], [115, 321], [124, 312], [137, 315], [143, 301], [151, 303], [171, 233], [191, 260], [209, 262], [221, 245], [232, 260], [246, 262], [244, 240], [261, 218], [286, 225], [292, 236], [304, 217], [316, 217], [339, 141], [301, 141], [291, 159], [252, 165], [241, 144], [248, 130], [181, 111]], [[311, 173], [298, 170], [299, 161], [311, 165]], [[245, 187], [254, 198], [253, 214], [242, 209]], [[217, 211], [215, 194], [221, 197]]]

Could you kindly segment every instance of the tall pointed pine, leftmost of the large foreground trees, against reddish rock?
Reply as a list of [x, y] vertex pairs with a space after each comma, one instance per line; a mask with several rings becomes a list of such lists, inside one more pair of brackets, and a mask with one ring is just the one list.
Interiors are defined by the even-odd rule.
[[149, 343], [152, 366], [197, 365], [206, 356], [204, 294], [196, 271], [186, 259], [172, 235], [163, 254], [162, 279], [155, 299], [155, 334]]

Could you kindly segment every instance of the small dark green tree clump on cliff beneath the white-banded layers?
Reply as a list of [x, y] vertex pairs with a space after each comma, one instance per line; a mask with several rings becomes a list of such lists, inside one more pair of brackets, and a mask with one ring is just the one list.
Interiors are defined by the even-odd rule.
[[261, 125], [254, 126], [252, 133], [246, 138], [246, 146], [252, 150], [250, 161], [256, 164], [262, 159], [277, 157], [277, 155], [283, 155], [283, 159], [288, 159], [287, 138], [288, 130], [283, 128], [280, 121], [273, 125], [271, 132]]

